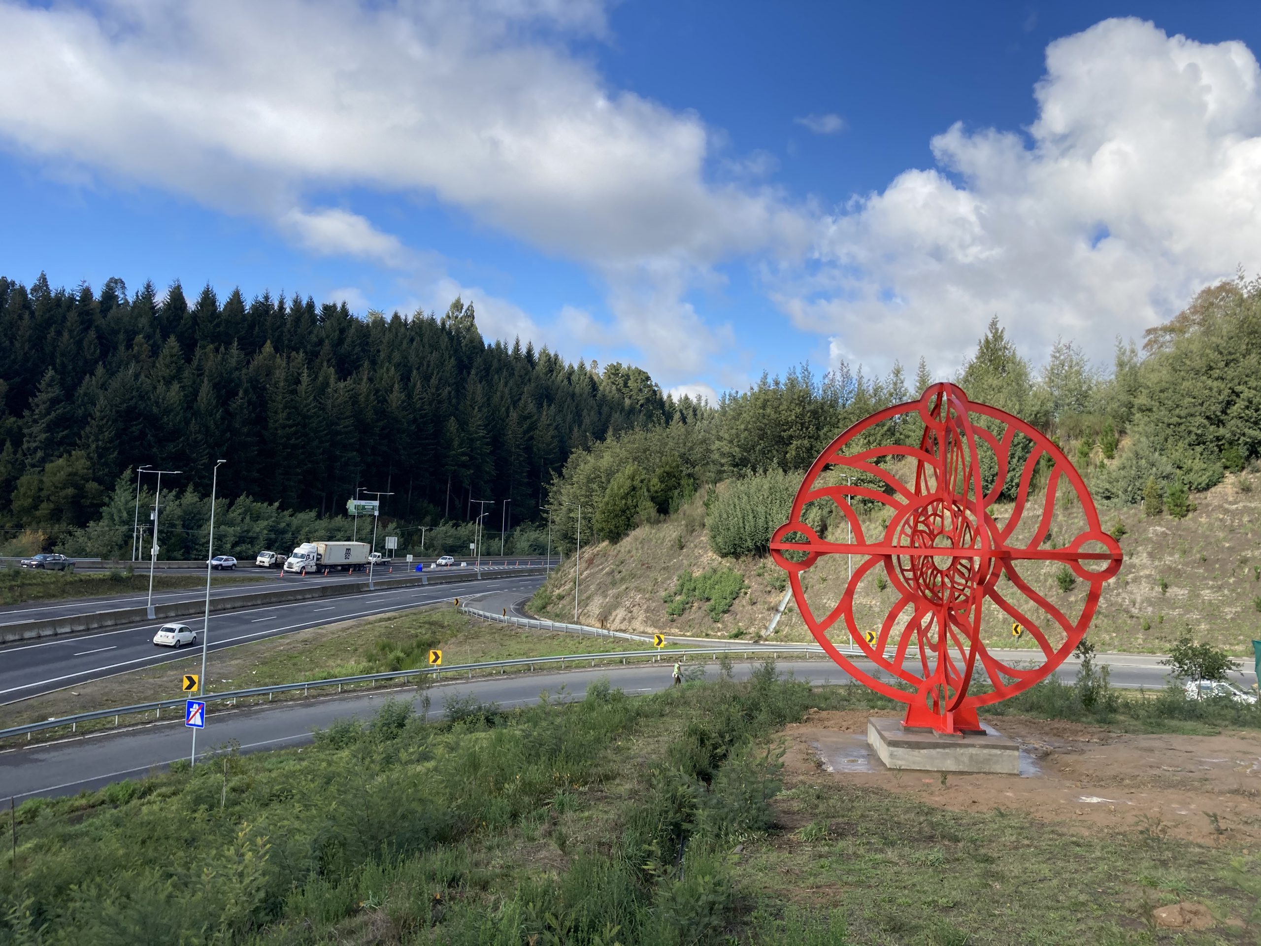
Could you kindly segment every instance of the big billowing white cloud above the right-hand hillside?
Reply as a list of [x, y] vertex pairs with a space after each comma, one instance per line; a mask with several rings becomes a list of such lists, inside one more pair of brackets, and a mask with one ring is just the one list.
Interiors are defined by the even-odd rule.
[[1028, 139], [956, 124], [937, 168], [832, 216], [773, 286], [801, 327], [869, 365], [939, 373], [997, 314], [1026, 352], [1107, 358], [1238, 264], [1261, 269], [1261, 69], [1242, 43], [1107, 20], [1052, 43]]

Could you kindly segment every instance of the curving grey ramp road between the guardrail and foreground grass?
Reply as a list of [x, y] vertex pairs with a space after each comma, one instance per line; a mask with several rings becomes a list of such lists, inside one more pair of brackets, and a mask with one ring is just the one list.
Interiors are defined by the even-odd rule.
[[[752, 662], [736, 663], [736, 679], [748, 677], [753, 666]], [[779, 670], [812, 685], [850, 682], [840, 667], [818, 660], [781, 660]], [[718, 667], [706, 663], [705, 671], [712, 679]], [[1076, 669], [1061, 667], [1059, 675], [1072, 681]], [[671, 665], [610, 666], [439, 682], [429, 690], [433, 700], [430, 718], [441, 718], [445, 701], [459, 696], [472, 695], [504, 709], [536, 703], [543, 690], [554, 700], [581, 699], [591, 681], [601, 677], [632, 695], [654, 692], [671, 685]], [[1164, 669], [1155, 657], [1134, 656], [1113, 665], [1112, 681], [1121, 687], [1155, 687], [1164, 682]], [[207, 728], [198, 739], [198, 744], [206, 747], [204, 754], [199, 753], [198, 758], [233, 743], [242, 752], [303, 745], [311, 740], [313, 730], [328, 728], [337, 719], [369, 719], [391, 695], [414, 700], [417, 690], [404, 687], [393, 694], [329, 696], [242, 709], [212, 704]], [[188, 729], [173, 721], [0, 752], [0, 795], [13, 795], [20, 802], [35, 795], [73, 795], [108, 782], [139, 778], [175, 759], [187, 759], [189, 745]]]

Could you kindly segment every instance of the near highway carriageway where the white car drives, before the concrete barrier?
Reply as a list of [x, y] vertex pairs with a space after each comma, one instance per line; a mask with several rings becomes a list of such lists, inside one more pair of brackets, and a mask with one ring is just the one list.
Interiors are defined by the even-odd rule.
[[[489, 573], [493, 575], [494, 573]], [[300, 579], [289, 579], [300, 580]], [[344, 579], [343, 579], [344, 580]], [[250, 641], [364, 618], [422, 604], [446, 602], [487, 592], [512, 592], [528, 597], [542, 581], [530, 578], [484, 578], [439, 585], [383, 588], [344, 598], [323, 598], [211, 614], [209, 650], [217, 651]], [[203, 593], [204, 594], [204, 593]], [[183, 618], [200, 633], [202, 618]], [[154, 632], [160, 621], [131, 627], [55, 637], [38, 643], [0, 647], [0, 706], [59, 690], [86, 680], [98, 680], [130, 670], [187, 657], [193, 647], [155, 647]]]

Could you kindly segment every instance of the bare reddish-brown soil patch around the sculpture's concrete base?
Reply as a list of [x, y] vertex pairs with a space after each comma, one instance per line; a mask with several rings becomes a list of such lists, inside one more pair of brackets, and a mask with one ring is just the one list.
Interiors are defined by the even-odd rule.
[[1137, 829], [1204, 844], [1261, 845], [1261, 738], [1129, 735], [1078, 723], [1005, 716], [1026, 774], [892, 772], [866, 748], [866, 710], [812, 710], [784, 730], [786, 774], [821, 768], [851, 785], [943, 809], [1023, 811], [1078, 831]]

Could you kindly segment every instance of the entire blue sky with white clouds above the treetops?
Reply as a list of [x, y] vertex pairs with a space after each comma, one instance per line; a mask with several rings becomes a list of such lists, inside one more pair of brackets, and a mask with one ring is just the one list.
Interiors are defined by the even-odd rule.
[[715, 399], [1045, 362], [1261, 271], [1261, 5], [0, 0], [0, 275], [369, 309]]

